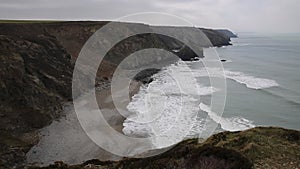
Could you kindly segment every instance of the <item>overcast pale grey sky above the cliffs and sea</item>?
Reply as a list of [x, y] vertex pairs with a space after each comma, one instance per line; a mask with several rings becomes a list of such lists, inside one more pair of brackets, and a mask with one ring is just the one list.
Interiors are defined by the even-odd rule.
[[0, 0], [1, 19], [113, 20], [164, 12], [196, 26], [300, 32], [300, 0]]

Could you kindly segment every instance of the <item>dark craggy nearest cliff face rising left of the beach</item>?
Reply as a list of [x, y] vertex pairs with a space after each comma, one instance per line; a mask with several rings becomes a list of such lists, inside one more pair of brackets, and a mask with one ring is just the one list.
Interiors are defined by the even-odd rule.
[[71, 56], [52, 37], [0, 35], [1, 164], [22, 163], [35, 130], [60, 116], [71, 100], [72, 69]]

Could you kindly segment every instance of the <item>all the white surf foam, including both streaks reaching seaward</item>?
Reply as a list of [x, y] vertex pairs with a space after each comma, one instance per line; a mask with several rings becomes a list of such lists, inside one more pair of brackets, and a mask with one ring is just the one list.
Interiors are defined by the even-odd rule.
[[[153, 81], [143, 85], [133, 96], [127, 109], [132, 114], [123, 123], [126, 135], [152, 137], [157, 148], [170, 146], [184, 137], [197, 136], [205, 130], [205, 124], [219, 123], [223, 130], [237, 131], [252, 128], [252, 121], [243, 117], [223, 118], [200, 104], [199, 95], [211, 95], [220, 89], [202, 86], [196, 80], [207, 77], [207, 69], [190, 69], [190, 63], [178, 62], [153, 76]], [[222, 74], [253, 89], [278, 84], [269, 79], [257, 78], [241, 72], [210, 68], [211, 77]], [[200, 105], [200, 106], [199, 106]], [[201, 111], [202, 110], [202, 111]], [[209, 116], [206, 119], [206, 115]], [[208, 120], [208, 121], [207, 121]]]

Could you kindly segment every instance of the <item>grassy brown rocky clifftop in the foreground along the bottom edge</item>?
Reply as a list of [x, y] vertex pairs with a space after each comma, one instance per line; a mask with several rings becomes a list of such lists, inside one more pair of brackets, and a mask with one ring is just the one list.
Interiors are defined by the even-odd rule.
[[[242, 132], [222, 132], [203, 143], [183, 141], [154, 157], [118, 162], [90, 160], [70, 166], [57, 162], [47, 169], [273, 169], [300, 166], [300, 132], [258, 127]], [[37, 167], [32, 167], [37, 168]]]

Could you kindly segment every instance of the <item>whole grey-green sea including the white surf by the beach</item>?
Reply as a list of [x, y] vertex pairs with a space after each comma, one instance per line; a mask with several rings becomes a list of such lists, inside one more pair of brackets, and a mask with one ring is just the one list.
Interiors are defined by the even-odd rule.
[[225, 89], [211, 87], [201, 60], [178, 62], [141, 86], [127, 106], [132, 114], [124, 121], [123, 132], [155, 136], [153, 143], [161, 148], [203, 136], [212, 125], [217, 125], [212, 133], [255, 126], [300, 130], [300, 35], [240, 33], [232, 43], [215, 49], [227, 61], [224, 71], [215, 69], [210, 75], [226, 77], [222, 116], [211, 110], [210, 101], [214, 92]]

